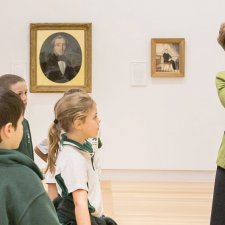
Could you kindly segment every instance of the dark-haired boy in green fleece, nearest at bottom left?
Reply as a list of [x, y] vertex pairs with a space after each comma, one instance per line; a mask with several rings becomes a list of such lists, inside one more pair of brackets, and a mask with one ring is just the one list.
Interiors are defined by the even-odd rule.
[[24, 104], [0, 88], [0, 224], [59, 225], [33, 160], [15, 149], [23, 137]]

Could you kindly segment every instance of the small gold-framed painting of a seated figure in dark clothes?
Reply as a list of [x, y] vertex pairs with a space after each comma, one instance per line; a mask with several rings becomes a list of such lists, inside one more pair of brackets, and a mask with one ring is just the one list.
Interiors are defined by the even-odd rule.
[[184, 38], [151, 39], [152, 77], [183, 77], [184, 65]]

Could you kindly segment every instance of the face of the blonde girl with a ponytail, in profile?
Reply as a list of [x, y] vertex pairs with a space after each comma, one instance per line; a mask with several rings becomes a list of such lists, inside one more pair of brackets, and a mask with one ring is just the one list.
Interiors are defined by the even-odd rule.
[[100, 120], [97, 115], [97, 107], [96, 104], [94, 104], [92, 109], [89, 111], [85, 122], [82, 124], [82, 131], [86, 139], [97, 137], [99, 124]]

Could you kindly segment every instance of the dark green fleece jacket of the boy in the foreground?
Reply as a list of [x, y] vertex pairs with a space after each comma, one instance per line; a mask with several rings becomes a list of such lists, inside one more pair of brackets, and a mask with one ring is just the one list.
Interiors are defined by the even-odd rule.
[[35, 163], [16, 150], [0, 149], [0, 225], [59, 225]]

